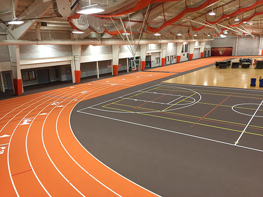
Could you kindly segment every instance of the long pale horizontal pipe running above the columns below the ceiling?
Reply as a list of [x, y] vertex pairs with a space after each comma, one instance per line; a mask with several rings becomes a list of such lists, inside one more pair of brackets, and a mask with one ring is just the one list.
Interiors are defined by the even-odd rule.
[[[195, 42], [195, 41], [210, 41], [214, 39], [133, 39], [132, 45], [138, 44], [161, 44], [161, 43], [176, 43], [176, 42]], [[0, 40], [0, 46], [3, 45], [126, 45], [123, 39], [108, 39], [108, 38], [88, 38], [74, 40]]]

